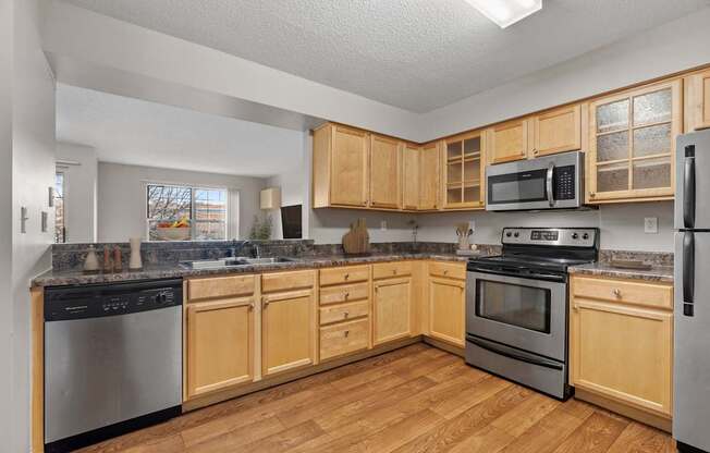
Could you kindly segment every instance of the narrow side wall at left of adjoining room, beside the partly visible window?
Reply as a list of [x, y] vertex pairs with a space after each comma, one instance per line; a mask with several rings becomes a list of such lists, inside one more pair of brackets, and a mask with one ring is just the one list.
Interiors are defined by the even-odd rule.
[[96, 149], [71, 143], [57, 143], [57, 160], [77, 162], [61, 166], [64, 173], [64, 224], [68, 243], [96, 242], [96, 192], [98, 159]]

